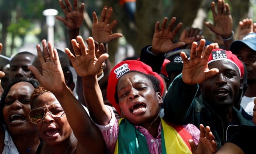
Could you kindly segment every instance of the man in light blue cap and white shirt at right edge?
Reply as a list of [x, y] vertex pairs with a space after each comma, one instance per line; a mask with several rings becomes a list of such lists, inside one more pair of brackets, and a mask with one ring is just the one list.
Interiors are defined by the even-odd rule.
[[247, 68], [248, 88], [242, 98], [241, 106], [252, 116], [256, 98], [256, 33], [249, 33], [243, 40], [234, 41], [230, 46], [230, 51], [244, 62]]

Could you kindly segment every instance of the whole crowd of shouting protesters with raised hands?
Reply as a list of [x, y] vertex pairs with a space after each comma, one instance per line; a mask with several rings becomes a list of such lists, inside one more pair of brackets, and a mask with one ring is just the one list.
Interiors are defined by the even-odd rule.
[[216, 43], [191, 26], [174, 41], [182, 23], [165, 17], [139, 58], [111, 67], [107, 44], [123, 36], [112, 33], [113, 9], [104, 7], [99, 20], [93, 12], [92, 36], [83, 38], [85, 4], [59, 4], [70, 39], [64, 51], [42, 40], [37, 55], [0, 59], [2, 154], [254, 152], [252, 19], [239, 22], [235, 40], [229, 5], [212, 2], [214, 23], [205, 26], [222, 39]]

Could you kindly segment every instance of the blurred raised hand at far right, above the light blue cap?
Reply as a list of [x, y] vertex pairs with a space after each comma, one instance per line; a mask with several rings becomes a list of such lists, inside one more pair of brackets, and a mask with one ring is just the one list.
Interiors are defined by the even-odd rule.
[[243, 19], [241, 22], [239, 22], [239, 29], [238, 29], [238, 40], [242, 40], [245, 35], [249, 33], [253, 33], [253, 21], [252, 18], [246, 18]]

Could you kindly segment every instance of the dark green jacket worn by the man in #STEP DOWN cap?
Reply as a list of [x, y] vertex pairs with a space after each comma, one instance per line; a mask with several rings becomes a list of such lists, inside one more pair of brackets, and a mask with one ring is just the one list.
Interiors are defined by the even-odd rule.
[[164, 99], [164, 120], [185, 125], [192, 123], [199, 128], [200, 124], [208, 125], [215, 136], [218, 149], [226, 140], [240, 129], [241, 125], [253, 125], [245, 119], [236, 109], [233, 110], [233, 121], [224, 123], [214, 110], [203, 101], [202, 95], [195, 97], [198, 85], [186, 85], [182, 81], [182, 75], [178, 75], [172, 82]]

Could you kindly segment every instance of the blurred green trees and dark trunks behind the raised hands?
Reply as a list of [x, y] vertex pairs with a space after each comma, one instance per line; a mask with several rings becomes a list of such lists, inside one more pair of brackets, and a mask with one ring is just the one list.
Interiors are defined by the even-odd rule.
[[[175, 16], [177, 23], [183, 23], [182, 31], [186, 26], [193, 24], [197, 15], [203, 16], [203, 14], [197, 14], [198, 10], [204, 4], [209, 4], [209, 1], [211, 2], [211, 0], [137, 0], [135, 22], [132, 23], [124, 9], [119, 5], [119, 0], [79, 0], [79, 2], [86, 4], [86, 9], [84, 10], [86, 18], [83, 27], [81, 27], [81, 35], [83, 37], [91, 36], [90, 20], [92, 19], [93, 11], [100, 15], [104, 6], [113, 7], [113, 19], [118, 20], [117, 27], [113, 33], [117, 31], [123, 33], [126, 41], [132, 45], [136, 54], [139, 55], [143, 46], [151, 44], [154, 25], [157, 21], [161, 22], [163, 17], [168, 17], [170, 20]], [[229, 0], [226, 2], [231, 6], [235, 30], [238, 22], [243, 18], [247, 18], [250, 2], [249, 0]], [[73, 0], [71, 0], [71, 3], [73, 4]], [[15, 52], [15, 49], [17, 51], [17, 48], [24, 44], [24, 38], [28, 34], [32, 33], [32, 35], [35, 35], [38, 38], [38, 43], [40, 40], [47, 38], [45, 16], [42, 15], [42, 11], [45, 9], [57, 9], [59, 15], [62, 13], [57, 0], [0, 1], [0, 42], [4, 47], [2, 55], [9, 54], [7, 56], [10, 56], [12, 52]], [[210, 11], [205, 11], [203, 21], [205, 20], [211, 20]], [[38, 27], [40, 30], [38, 30]], [[64, 41], [68, 44], [66, 27], [56, 20], [54, 29], [55, 41]], [[214, 39], [205, 26], [203, 26], [203, 29], [205, 30], [205, 35], [209, 35], [207, 37], [209, 40]], [[9, 38], [8, 44], [7, 38]], [[18, 44], [15, 43], [15, 38], [19, 38]], [[177, 41], [178, 38], [179, 35], [174, 39]], [[119, 40], [113, 40], [109, 43], [111, 62], [115, 60], [115, 52], [118, 45]], [[7, 49], [8, 53], [6, 53]]]

